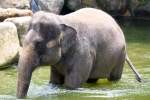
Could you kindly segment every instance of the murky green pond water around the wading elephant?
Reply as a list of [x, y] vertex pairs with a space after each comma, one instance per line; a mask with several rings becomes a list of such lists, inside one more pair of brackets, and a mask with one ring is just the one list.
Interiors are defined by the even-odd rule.
[[[34, 100], [150, 100], [150, 24], [122, 25], [128, 45], [128, 54], [143, 82], [135, 80], [125, 64], [122, 79], [117, 82], [99, 80], [96, 84], [84, 84], [78, 90], [52, 88], [48, 85], [49, 67], [41, 66], [33, 73], [28, 98]], [[0, 70], [0, 99], [16, 99], [17, 70]]]

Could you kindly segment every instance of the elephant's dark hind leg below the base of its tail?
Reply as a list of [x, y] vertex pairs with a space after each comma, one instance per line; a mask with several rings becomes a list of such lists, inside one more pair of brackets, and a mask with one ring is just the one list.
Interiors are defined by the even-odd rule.
[[123, 72], [123, 66], [124, 66], [124, 62], [125, 62], [125, 52], [121, 53], [117, 62], [118, 63], [112, 69], [112, 71], [108, 77], [109, 81], [119, 81], [121, 79], [122, 72]]

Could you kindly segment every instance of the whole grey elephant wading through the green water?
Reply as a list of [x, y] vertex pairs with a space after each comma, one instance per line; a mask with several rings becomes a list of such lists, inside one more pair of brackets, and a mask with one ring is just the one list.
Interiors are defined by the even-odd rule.
[[41, 64], [51, 65], [49, 83], [76, 89], [102, 78], [120, 80], [125, 61], [141, 81], [128, 58], [123, 31], [104, 11], [82, 8], [67, 15], [39, 11], [32, 16], [20, 52], [16, 95], [26, 97], [32, 72]]

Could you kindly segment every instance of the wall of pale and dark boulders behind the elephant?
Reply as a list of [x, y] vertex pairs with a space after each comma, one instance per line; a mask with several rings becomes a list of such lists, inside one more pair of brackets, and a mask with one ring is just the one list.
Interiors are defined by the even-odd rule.
[[32, 12], [66, 14], [84, 7], [113, 16], [150, 17], [149, 0], [0, 0], [0, 68], [17, 59]]

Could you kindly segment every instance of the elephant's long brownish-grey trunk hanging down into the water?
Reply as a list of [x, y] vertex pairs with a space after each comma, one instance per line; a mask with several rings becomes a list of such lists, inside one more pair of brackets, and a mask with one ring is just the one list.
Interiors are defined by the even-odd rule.
[[18, 64], [17, 97], [24, 98], [30, 85], [33, 70], [38, 66], [39, 58], [32, 45], [23, 47]]

